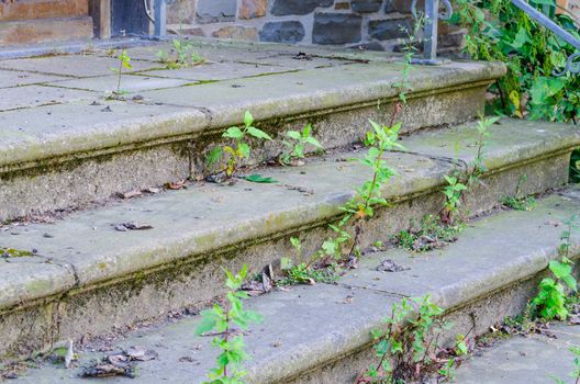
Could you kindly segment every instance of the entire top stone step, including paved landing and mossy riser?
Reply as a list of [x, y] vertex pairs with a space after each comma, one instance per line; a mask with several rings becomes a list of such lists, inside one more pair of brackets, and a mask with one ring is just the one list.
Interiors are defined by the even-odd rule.
[[[315, 136], [332, 149], [358, 140], [368, 118], [389, 121], [397, 100], [402, 64], [393, 57], [192, 44], [207, 61], [179, 70], [156, 57], [167, 44], [129, 49], [126, 102], [104, 99], [116, 88], [110, 68], [119, 65], [104, 52], [0, 60], [0, 79], [5, 74], [13, 82], [13, 71], [36, 79], [25, 87], [0, 81], [0, 222], [199, 177], [207, 153], [246, 110], [276, 138], [314, 123]], [[415, 68], [404, 129], [473, 117], [487, 86], [503, 74], [503, 65], [489, 63]], [[279, 140], [258, 146], [248, 162], [280, 150]]]

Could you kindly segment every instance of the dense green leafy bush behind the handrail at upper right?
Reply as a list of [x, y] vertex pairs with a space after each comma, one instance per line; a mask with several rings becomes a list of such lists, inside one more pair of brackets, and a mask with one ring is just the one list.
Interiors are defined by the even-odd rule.
[[[570, 16], [556, 14], [555, 0], [531, 0], [538, 9], [576, 37]], [[507, 75], [490, 91], [490, 109], [515, 117], [577, 122], [580, 111], [580, 78], [553, 76], [575, 48], [522, 12], [510, 0], [457, 0], [451, 23], [467, 29], [466, 53], [477, 60], [505, 63]]]

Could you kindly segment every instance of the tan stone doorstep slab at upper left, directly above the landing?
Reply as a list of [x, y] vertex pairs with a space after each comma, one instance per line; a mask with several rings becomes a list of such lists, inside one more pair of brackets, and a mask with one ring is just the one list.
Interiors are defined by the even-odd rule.
[[92, 38], [92, 18], [89, 15], [0, 21], [2, 46], [81, 38]]

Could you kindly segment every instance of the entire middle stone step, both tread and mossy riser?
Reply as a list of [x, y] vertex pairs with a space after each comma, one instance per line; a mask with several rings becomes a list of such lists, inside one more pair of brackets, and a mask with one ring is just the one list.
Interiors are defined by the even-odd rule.
[[[512, 195], [539, 193], [568, 180], [570, 151], [580, 145], [573, 126], [502, 120], [484, 147], [488, 171], [466, 196], [471, 213]], [[382, 191], [392, 206], [364, 225], [362, 246], [436, 214], [444, 176], [473, 167], [473, 124], [406, 137], [409, 153], [390, 153], [399, 174]], [[221, 268], [247, 263], [259, 271], [293, 255], [300, 236], [305, 255], [320, 247], [339, 206], [370, 178], [362, 156], [336, 153], [304, 167], [260, 169], [279, 181], [233, 187], [193, 183], [187, 190], [111, 202], [71, 213], [52, 224], [9, 226], [0, 244], [37, 255], [0, 262], [1, 353], [25, 354], [54, 340], [98, 335], [186, 306], [203, 306], [221, 294]], [[51, 216], [45, 221], [51, 221]], [[126, 222], [148, 230], [118, 231]]]

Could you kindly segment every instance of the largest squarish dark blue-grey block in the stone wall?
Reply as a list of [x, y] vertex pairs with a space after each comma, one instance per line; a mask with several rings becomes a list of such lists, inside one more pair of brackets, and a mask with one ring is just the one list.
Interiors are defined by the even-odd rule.
[[360, 42], [362, 18], [349, 13], [315, 13], [312, 43], [349, 44]]

